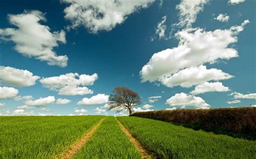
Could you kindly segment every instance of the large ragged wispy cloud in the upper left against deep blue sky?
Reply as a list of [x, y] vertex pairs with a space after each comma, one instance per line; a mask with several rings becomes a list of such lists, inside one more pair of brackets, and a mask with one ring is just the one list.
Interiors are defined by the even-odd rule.
[[[57, 56], [52, 49], [58, 46], [58, 42], [66, 43], [65, 32], [50, 32], [49, 26], [42, 25], [46, 21], [44, 13], [40, 11], [24, 11], [19, 15], [8, 15], [12, 25], [17, 28], [0, 28], [0, 39], [13, 41], [14, 49], [24, 56], [36, 57], [46, 61], [49, 65], [66, 67], [68, 57]], [[25, 37], [25, 38], [24, 38]]]

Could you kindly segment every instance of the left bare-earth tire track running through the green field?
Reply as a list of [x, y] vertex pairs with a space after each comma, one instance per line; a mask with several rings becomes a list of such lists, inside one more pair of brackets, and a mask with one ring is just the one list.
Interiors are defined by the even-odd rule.
[[93, 133], [95, 133], [95, 131], [99, 128], [99, 126], [102, 124], [103, 120], [105, 120], [105, 118], [101, 119], [98, 124], [93, 127], [88, 133], [86, 133], [81, 140], [79, 140], [77, 143], [75, 143], [74, 146], [72, 146], [69, 151], [67, 151], [66, 153], [64, 153], [64, 155], [62, 156], [62, 158], [65, 159], [70, 159], [72, 158], [73, 154], [75, 154], [85, 143], [86, 141], [92, 136]]

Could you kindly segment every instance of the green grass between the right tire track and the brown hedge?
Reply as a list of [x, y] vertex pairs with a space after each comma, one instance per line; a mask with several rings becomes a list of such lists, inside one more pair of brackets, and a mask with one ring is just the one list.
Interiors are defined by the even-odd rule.
[[256, 158], [256, 141], [235, 139], [139, 117], [118, 117], [159, 158]]

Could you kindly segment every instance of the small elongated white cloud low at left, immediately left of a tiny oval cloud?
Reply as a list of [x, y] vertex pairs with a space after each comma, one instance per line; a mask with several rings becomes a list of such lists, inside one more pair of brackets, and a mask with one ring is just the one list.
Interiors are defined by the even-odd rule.
[[29, 106], [45, 106], [45, 105], [53, 104], [54, 102], [55, 102], [55, 97], [48, 96], [45, 98], [40, 97], [39, 99], [36, 99], [36, 100], [26, 100], [24, 104]]

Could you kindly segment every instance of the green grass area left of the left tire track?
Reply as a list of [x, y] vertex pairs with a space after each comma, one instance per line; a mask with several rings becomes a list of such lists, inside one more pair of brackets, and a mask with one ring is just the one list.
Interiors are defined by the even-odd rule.
[[0, 117], [0, 158], [56, 157], [103, 117]]

